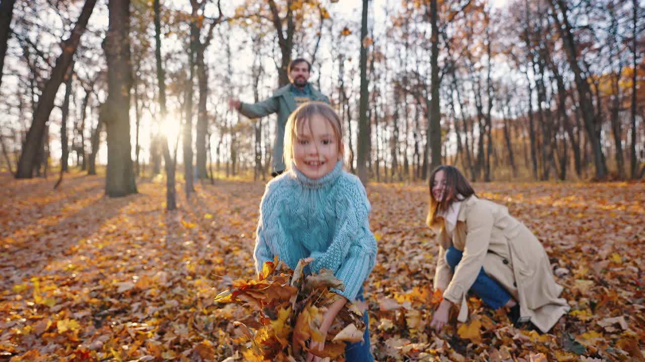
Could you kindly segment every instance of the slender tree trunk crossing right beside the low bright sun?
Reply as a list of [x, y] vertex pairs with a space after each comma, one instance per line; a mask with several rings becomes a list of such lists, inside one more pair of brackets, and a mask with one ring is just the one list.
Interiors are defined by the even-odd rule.
[[[161, 119], [166, 118], [166, 73], [164, 72], [161, 63], [161, 5], [159, 0], [154, 0], [153, 3], [155, 12], [155, 62], [157, 66], [157, 84], [159, 84], [159, 111]], [[175, 159], [170, 155], [168, 148], [168, 138], [159, 137], [157, 146], [163, 150], [164, 169], [166, 170], [166, 210], [171, 211], [177, 209], [177, 196], [175, 191], [175, 166], [177, 164], [176, 154]]]

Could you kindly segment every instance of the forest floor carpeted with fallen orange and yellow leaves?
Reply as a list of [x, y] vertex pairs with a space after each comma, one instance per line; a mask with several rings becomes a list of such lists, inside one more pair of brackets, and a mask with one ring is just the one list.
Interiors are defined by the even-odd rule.
[[[0, 361], [242, 361], [248, 308], [216, 303], [254, 274], [262, 182], [164, 181], [103, 196], [101, 176], [0, 175]], [[645, 184], [476, 184], [537, 234], [571, 312], [549, 334], [469, 300], [428, 328], [437, 247], [424, 185], [371, 184], [377, 265], [365, 285], [377, 361], [645, 361]], [[250, 342], [247, 342], [250, 343]]]

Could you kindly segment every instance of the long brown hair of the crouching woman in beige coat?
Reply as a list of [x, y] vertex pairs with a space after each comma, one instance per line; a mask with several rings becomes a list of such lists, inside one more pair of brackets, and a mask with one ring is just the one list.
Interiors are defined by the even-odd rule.
[[[437, 172], [444, 171], [444, 179], [446, 180], [446, 189], [443, 193], [442, 200], [435, 200], [432, 195], [432, 185], [435, 182]], [[471, 195], [475, 195], [475, 190], [470, 186], [464, 174], [455, 166], [441, 165], [435, 168], [430, 175], [430, 182], [428, 184], [428, 191], [430, 191], [430, 211], [428, 211], [428, 218], [426, 224], [428, 226], [439, 225], [437, 215], [441, 212], [448, 211], [448, 207], [455, 201], [465, 200]]]

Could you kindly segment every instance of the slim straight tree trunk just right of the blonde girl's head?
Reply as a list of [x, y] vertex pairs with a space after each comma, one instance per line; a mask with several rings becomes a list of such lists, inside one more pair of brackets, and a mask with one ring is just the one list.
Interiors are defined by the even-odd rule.
[[367, 160], [370, 158], [370, 118], [368, 116], [368, 107], [370, 93], [368, 91], [368, 78], [367, 78], [367, 14], [368, 14], [368, 0], [362, 0], [362, 20], [361, 20], [361, 60], [359, 67], [361, 68], [361, 100], [359, 104], [359, 129], [357, 138], [357, 158], [356, 158], [356, 171], [357, 176], [361, 179], [363, 185], [367, 184]]

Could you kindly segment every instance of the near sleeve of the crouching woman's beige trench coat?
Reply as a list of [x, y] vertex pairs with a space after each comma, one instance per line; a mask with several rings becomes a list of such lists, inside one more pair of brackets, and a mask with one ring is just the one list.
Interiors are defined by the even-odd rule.
[[484, 265], [492, 231], [493, 214], [482, 202], [475, 203], [466, 214], [464, 254], [443, 294], [444, 298], [461, 303]]

